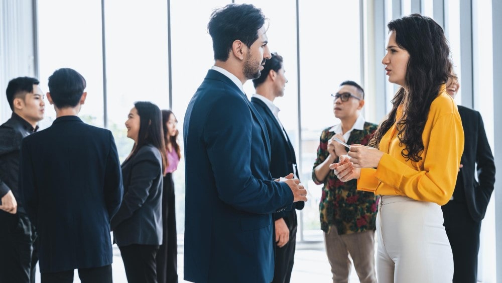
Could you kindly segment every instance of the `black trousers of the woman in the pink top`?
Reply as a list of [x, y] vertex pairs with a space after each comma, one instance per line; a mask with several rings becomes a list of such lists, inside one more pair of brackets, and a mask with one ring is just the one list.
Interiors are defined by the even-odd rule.
[[172, 173], [164, 177], [162, 193], [163, 241], [157, 252], [157, 278], [159, 283], [178, 282], [178, 243], [176, 232], [176, 209]]

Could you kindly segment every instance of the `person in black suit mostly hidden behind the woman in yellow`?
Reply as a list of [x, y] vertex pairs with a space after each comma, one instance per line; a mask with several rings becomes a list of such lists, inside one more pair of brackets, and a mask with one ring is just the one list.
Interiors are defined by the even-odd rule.
[[[446, 91], [455, 98], [459, 87], [458, 79], [454, 76]], [[453, 282], [474, 283], [477, 281], [481, 220], [493, 192], [495, 163], [481, 114], [463, 106], [458, 106], [458, 113], [465, 133], [464, 152], [453, 197], [441, 209], [453, 252]]]

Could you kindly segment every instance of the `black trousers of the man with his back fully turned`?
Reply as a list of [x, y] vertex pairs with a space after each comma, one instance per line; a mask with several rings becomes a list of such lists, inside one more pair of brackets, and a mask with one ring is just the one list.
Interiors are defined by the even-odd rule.
[[[74, 270], [61, 272], [41, 273], [42, 283], [71, 283], [73, 282]], [[78, 268], [78, 277], [82, 283], [112, 283], [111, 264], [91, 267]]]

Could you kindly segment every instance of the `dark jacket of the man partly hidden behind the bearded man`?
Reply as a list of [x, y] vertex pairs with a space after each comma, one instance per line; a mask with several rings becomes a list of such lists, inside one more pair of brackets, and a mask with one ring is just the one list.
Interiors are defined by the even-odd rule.
[[[251, 98], [251, 104], [256, 108], [258, 113], [260, 113], [265, 122], [265, 126], [267, 126], [267, 133], [270, 139], [270, 173], [272, 177], [284, 177], [289, 173], [300, 176], [298, 167], [296, 166], [295, 149], [289, 140], [289, 136], [287, 136], [287, 134], [286, 137], [284, 136], [284, 132], [286, 131], [284, 131], [283, 127], [277, 122], [272, 111], [270, 111], [269, 107], [262, 100]], [[305, 207], [305, 202], [296, 202], [294, 203], [294, 207], [301, 210]], [[276, 212], [273, 214], [273, 217], [274, 220], [286, 218], [290, 213], [289, 211]]]

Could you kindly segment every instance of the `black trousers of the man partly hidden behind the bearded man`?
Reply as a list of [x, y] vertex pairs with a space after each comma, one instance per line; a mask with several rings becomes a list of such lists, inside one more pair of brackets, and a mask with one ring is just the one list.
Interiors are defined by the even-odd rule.
[[278, 247], [276, 244], [276, 231], [274, 229], [273, 241], [274, 245], [276, 245], [276, 252], [273, 283], [289, 283], [295, 260], [296, 231], [298, 228], [296, 210], [293, 209], [288, 217], [284, 218], [284, 221], [289, 228], [289, 241], [282, 248]]

